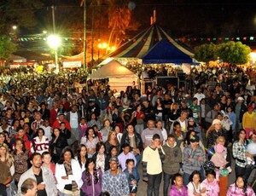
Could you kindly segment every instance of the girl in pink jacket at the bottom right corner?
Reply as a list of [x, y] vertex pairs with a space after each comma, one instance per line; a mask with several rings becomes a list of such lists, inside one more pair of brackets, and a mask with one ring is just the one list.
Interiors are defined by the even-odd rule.
[[236, 182], [230, 185], [227, 196], [255, 196], [255, 193], [244, 177], [237, 176]]

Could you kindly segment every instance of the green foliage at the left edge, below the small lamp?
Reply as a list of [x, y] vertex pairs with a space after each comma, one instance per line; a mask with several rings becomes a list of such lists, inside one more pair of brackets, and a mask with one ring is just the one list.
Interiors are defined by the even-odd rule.
[[16, 50], [15, 43], [12, 43], [9, 37], [0, 37], [0, 60], [8, 60], [9, 56]]

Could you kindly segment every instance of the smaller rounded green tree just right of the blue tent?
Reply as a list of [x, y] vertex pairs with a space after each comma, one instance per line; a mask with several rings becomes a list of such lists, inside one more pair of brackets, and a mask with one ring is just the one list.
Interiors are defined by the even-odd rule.
[[216, 45], [213, 43], [202, 44], [201, 46], [195, 47], [195, 59], [197, 61], [203, 61], [207, 64], [209, 61], [217, 60]]

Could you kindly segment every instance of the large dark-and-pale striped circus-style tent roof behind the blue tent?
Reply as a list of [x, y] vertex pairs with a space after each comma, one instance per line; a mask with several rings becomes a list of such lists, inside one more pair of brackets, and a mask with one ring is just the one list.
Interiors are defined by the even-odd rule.
[[143, 56], [152, 49], [155, 43], [158, 43], [163, 38], [169, 40], [177, 49], [183, 51], [184, 54], [193, 56], [193, 50], [189, 49], [184, 43], [177, 42], [170, 37], [160, 26], [156, 24], [149, 26], [148, 29], [139, 33], [136, 37], [131, 38], [124, 43], [119, 49], [113, 51], [105, 58], [143, 58]]

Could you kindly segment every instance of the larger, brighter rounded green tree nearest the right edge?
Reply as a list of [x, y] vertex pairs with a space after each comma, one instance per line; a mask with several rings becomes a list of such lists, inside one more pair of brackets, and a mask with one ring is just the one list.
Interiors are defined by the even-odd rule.
[[240, 65], [249, 60], [251, 49], [241, 42], [227, 42], [218, 45], [217, 54], [224, 62]]

